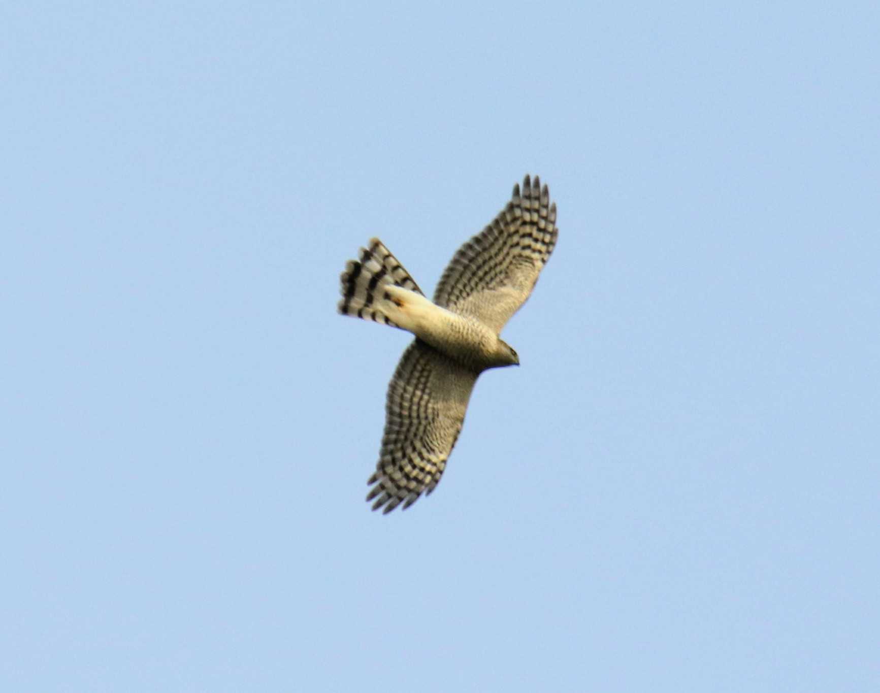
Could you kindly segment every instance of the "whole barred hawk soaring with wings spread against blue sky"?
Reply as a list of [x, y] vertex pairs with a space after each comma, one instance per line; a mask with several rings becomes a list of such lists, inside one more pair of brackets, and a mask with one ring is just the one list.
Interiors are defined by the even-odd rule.
[[519, 365], [498, 333], [532, 294], [555, 244], [556, 205], [537, 176], [526, 176], [495, 220], [455, 253], [433, 302], [378, 238], [348, 261], [339, 311], [415, 335], [388, 386], [382, 448], [367, 482], [373, 510], [407, 508], [434, 490], [477, 377]]

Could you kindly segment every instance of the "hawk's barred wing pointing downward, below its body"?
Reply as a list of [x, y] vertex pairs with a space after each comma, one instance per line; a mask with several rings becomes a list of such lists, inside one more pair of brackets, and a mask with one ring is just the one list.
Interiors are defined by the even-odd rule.
[[446, 468], [477, 374], [416, 339], [388, 386], [385, 434], [367, 500], [390, 513], [434, 490]]

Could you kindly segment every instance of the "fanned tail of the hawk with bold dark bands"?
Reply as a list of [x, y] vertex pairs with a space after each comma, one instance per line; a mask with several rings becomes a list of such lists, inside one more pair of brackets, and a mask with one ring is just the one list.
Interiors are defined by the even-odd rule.
[[407, 270], [378, 238], [370, 238], [370, 245], [361, 248], [360, 259], [348, 260], [345, 271], [340, 276], [342, 300], [339, 311], [342, 315], [375, 320], [383, 325], [398, 327], [389, 317], [386, 308], [385, 287], [391, 285], [406, 288], [422, 294]]

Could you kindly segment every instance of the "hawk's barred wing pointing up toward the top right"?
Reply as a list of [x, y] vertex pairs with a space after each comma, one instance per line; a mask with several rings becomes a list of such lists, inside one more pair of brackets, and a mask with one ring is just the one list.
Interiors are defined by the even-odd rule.
[[462, 245], [434, 292], [434, 303], [501, 332], [532, 293], [556, 244], [556, 205], [547, 186], [526, 176], [507, 207]]

